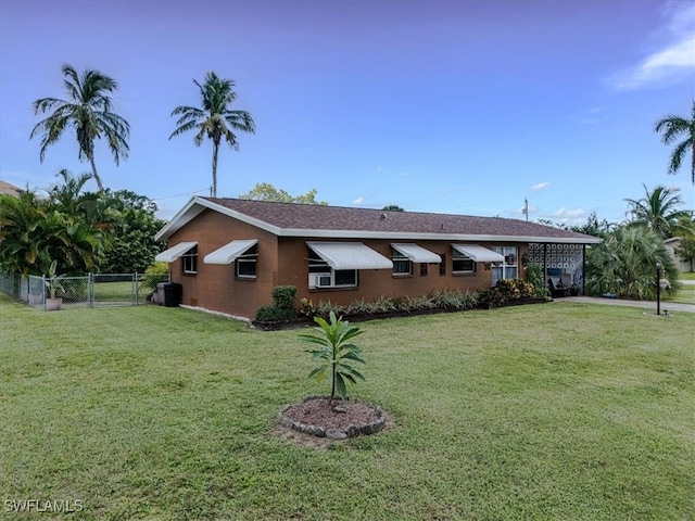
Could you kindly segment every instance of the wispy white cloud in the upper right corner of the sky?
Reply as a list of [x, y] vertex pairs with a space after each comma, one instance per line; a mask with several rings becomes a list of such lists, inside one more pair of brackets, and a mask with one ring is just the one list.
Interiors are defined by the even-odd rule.
[[[673, 4], [677, 5], [677, 4]], [[682, 9], [681, 5], [685, 5]], [[608, 78], [617, 90], [659, 86], [692, 77], [695, 73], [695, 4], [668, 9], [667, 27], [660, 30], [661, 45], [637, 65]]]

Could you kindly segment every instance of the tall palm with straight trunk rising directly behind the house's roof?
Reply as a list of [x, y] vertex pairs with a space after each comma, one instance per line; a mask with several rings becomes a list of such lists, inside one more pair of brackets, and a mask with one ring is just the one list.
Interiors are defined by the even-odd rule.
[[232, 111], [229, 105], [237, 99], [235, 92], [235, 81], [222, 79], [213, 72], [205, 74], [203, 85], [195, 79], [193, 82], [200, 89], [202, 109], [195, 106], [177, 106], [172, 112], [172, 116], [179, 116], [176, 122], [176, 130], [172, 132], [169, 139], [188, 130], [195, 129], [193, 137], [195, 147], [200, 147], [203, 138], [207, 137], [213, 142], [213, 187], [212, 196], [217, 196], [217, 155], [219, 143], [225, 138], [227, 144], [235, 150], [239, 150], [237, 136], [232, 130], [241, 130], [254, 134], [255, 124], [251, 114], [247, 111]]

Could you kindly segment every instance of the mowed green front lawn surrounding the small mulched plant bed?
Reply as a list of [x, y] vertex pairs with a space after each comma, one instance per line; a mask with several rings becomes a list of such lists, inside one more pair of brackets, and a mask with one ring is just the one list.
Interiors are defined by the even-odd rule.
[[[394, 419], [318, 450], [298, 331], [0, 296], [0, 491], [70, 519], [692, 520], [695, 314], [554, 303], [365, 322], [353, 396]], [[22, 516], [5, 513], [8, 519]]]

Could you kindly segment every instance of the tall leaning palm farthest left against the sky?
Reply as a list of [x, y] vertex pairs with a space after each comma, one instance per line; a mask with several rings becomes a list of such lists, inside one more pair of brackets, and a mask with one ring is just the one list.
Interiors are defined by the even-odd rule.
[[46, 149], [58, 142], [66, 128], [74, 128], [79, 147], [78, 157], [87, 160], [99, 190], [103, 190], [101, 177], [94, 163], [94, 140], [104, 138], [116, 163], [128, 156], [130, 125], [112, 112], [110, 92], [118, 89], [118, 84], [99, 71], [87, 69], [78, 75], [72, 65], [62, 67], [68, 100], [43, 98], [33, 103], [34, 113], [52, 113], [39, 122], [29, 139], [41, 134], [40, 160], [43, 162]]

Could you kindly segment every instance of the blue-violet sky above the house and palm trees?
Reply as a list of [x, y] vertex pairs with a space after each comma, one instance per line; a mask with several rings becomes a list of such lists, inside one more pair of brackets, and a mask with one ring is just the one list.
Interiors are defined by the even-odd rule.
[[210, 193], [210, 142], [168, 140], [207, 71], [236, 80], [257, 127], [220, 150], [220, 196], [270, 182], [332, 205], [514, 218], [528, 199], [532, 220], [580, 224], [623, 220], [644, 183], [695, 208], [654, 132], [695, 97], [690, 0], [0, 0], [0, 179], [41, 189], [89, 170], [72, 135], [42, 164], [28, 139], [31, 102], [65, 96], [63, 63], [119, 82], [129, 158], [98, 145], [97, 164], [164, 218]]

